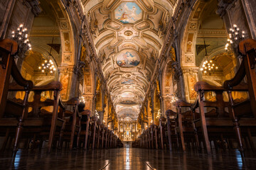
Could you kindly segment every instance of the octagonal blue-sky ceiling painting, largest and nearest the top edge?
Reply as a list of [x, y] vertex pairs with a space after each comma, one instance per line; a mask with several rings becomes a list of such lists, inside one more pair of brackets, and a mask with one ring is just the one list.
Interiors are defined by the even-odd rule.
[[122, 2], [114, 10], [114, 18], [122, 23], [134, 23], [142, 19], [142, 9], [135, 2]]

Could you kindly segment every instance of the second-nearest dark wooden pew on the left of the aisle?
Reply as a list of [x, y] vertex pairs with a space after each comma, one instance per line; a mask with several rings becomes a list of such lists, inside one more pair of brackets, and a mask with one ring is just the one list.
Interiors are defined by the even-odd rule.
[[[62, 84], [59, 81], [53, 81], [43, 86], [34, 86], [33, 101], [28, 102], [28, 107], [32, 108], [32, 111], [28, 113], [28, 117], [25, 121], [31, 122], [31, 125], [25, 125], [27, 127], [33, 126], [28, 132], [24, 132], [24, 135], [30, 137], [36, 135], [40, 140], [48, 140], [48, 149], [50, 152], [53, 140], [60, 139], [60, 134], [65, 128], [64, 111], [65, 106], [60, 99], [60, 91], [62, 90]], [[9, 91], [24, 91], [18, 84], [11, 84]], [[53, 91], [53, 99], [41, 99], [43, 91]], [[53, 107], [53, 111], [46, 111], [43, 107]], [[60, 111], [60, 112], [58, 112]], [[56, 128], [59, 128], [58, 134], [55, 134]], [[57, 135], [57, 136], [55, 136]], [[34, 139], [35, 141], [36, 139]]]

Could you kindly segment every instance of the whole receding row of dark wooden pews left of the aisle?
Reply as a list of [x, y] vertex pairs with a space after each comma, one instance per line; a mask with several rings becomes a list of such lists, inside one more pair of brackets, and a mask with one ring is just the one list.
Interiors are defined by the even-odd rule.
[[[78, 98], [62, 101], [59, 81], [44, 86], [33, 86], [18, 71], [14, 55], [18, 51], [14, 40], [0, 41], [0, 137], [4, 137], [1, 151], [13, 145], [16, 155], [23, 141], [23, 148], [42, 148], [47, 151], [69, 149], [102, 149], [122, 147], [122, 142], [108, 130], [90, 111], [80, 108]], [[14, 83], [10, 83], [10, 78]], [[22, 98], [11, 98], [14, 93]], [[51, 98], [45, 98], [44, 94]], [[9, 96], [9, 97], [8, 97]], [[85, 106], [83, 106], [85, 107]], [[64, 144], [64, 145], [63, 145]]]

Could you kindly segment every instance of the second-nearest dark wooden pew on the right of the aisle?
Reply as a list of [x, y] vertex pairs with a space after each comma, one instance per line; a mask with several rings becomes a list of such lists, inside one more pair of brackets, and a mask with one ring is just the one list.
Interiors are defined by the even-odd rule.
[[[223, 138], [235, 138], [233, 128], [238, 126], [233, 122], [232, 111], [230, 111], [229, 103], [223, 101], [223, 91], [225, 89], [222, 86], [212, 86], [206, 82], [199, 81], [196, 83], [195, 90], [198, 92], [198, 102], [195, 106], [199, 108], [200, 116], [194, 120], [197, 131], [203, 135], [203, 142], [206, 145], [208, 154], [210, 151], [210, 140], [219, 139], [223, 142]], [[234, 86], [232, 91], [246, 91], [247, 85]], [[215, 101], [205, 101], [203, 96], [207, 91], [215, 92]], [[230, 90], [231, 93], [231, 90]], [[195, 109], [194, 108], [194, 109]], [[205, 108], [214, 108], [213, 110], [205, 113]], [[225, 112], [225, 108], [228, 108], [228, 113]], [[243, 125], [247, 125], [245, 122], [241, 122]], [[198, 131], [198, 132], [199, 132]], [[238, 135], [238, 131], [235, 130]], [[210, 134], [210, 135], [209, 135]], [[242, 139], [242, 137], [241, 137]], [[238, 144], [242, 145], [242, 140], [238, 139]], [[243, 153], [241, 152], [242, 156]]]

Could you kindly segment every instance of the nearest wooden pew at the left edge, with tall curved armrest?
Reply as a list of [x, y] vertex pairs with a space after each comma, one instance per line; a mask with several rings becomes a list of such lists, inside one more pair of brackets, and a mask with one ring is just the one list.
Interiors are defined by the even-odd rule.
[[[18, 143], [21, 137], [21, 131], [24, 125], [24, 120], [28, 114], [28, 94], [33, 88], [32, 81], [27, 81], [23, 79], [21, 74], [18, 72], [18, 68], [14, 62], [14, 55], [18, 52], [18, 44], [14, 40], [1, 40], [0, 41], [0, 125], [11, 125], [11, 127], [16, 128], [15, 142], [14, 142], [14, 152], [13, 156], [16, 155], [18, 150]], [[7, 94], [9, 91], [9, 81], [10, 77], [14, 78], [14, 81], [25, 90], [25, 96], [22, 103], [9, 102], [9, 106], [6, 106]], [[15, 109], [13, 109], [15, 108]], [[9, 120], [9, 118], [4, 119], [4, 114], [8, 113], [16, 115], [18, 121]], [[17, 125], [18, 123], [18, 125]], [[9, 132], [6, 132], [6, 137], [9, 135]], [[6, 141], [4, 141], [6, 143]]]

